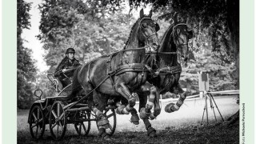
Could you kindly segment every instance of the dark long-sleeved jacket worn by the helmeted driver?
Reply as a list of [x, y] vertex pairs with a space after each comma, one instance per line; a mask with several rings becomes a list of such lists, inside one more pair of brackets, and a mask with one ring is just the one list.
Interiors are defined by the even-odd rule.
[[63, 69], [70, 69], [70, 68], [74, 68], [74, 67], [80, 66], [80, 65], [81, 64], [79, 63], [79, 61], [76, 58], [74, 58], [70, 62], [69, 58], [65, 57], [65, 58], [62, 59], [62, 62], [60, 62], [58, 64], [58, 67], [54, 72], [54, 77], [58, 78], [59, 76], [61, 76]]

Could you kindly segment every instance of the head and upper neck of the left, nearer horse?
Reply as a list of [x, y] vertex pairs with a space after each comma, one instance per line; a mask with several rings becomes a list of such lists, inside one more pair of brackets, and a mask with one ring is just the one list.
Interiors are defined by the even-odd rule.
[[130, 32], [125, 50], [145, 46], [147, 51], [156, 51], [159, 47], [157, 31], [160, 29], [158, 23], [151, 19], [152, 10], [149, 15], [144, 15], [140, 10], [140, 18], [135, 22]]

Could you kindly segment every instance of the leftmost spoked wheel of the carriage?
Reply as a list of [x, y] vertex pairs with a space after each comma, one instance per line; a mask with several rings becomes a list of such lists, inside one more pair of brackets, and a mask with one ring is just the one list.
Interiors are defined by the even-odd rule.
[[45, 116], [42, 113], [40, 106], [34, 106], [29, 115], [30, 118], [30, 134], [32, 138], [38, 140], [42, 138], [45, 132], [46, 123]]

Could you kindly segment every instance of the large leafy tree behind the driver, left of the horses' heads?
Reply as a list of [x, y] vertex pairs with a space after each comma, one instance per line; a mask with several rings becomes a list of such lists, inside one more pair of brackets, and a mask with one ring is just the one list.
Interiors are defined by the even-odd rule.
[[121, 50], [129, 35], [128, 22], [135, 20], [122, 14], [118, 7], [122, 6], [100, 1], [44, 1], [40, 6], [42, 18], [38, 38], [46, 50], [49, 72], [53, 72], [65, 57], [68, 47], [74, 47], [82, 63]]

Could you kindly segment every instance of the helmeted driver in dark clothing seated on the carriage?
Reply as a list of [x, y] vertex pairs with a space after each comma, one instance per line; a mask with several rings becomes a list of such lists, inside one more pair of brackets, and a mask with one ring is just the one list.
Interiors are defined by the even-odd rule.
[[62, 83], [62, 87], [66, 87], [71, 83], [70, 78], [72, 78], [74, 73], [74, 70], [67, 70], [81, 65], [79, 61], [74, 58], [74, 53], [75, 50], [73, 48], [66, 49], [66, 57], [62, 59], [62, 62], [58, 64], [58, 67], [54, 72], [54, 77], [58, 78]]

